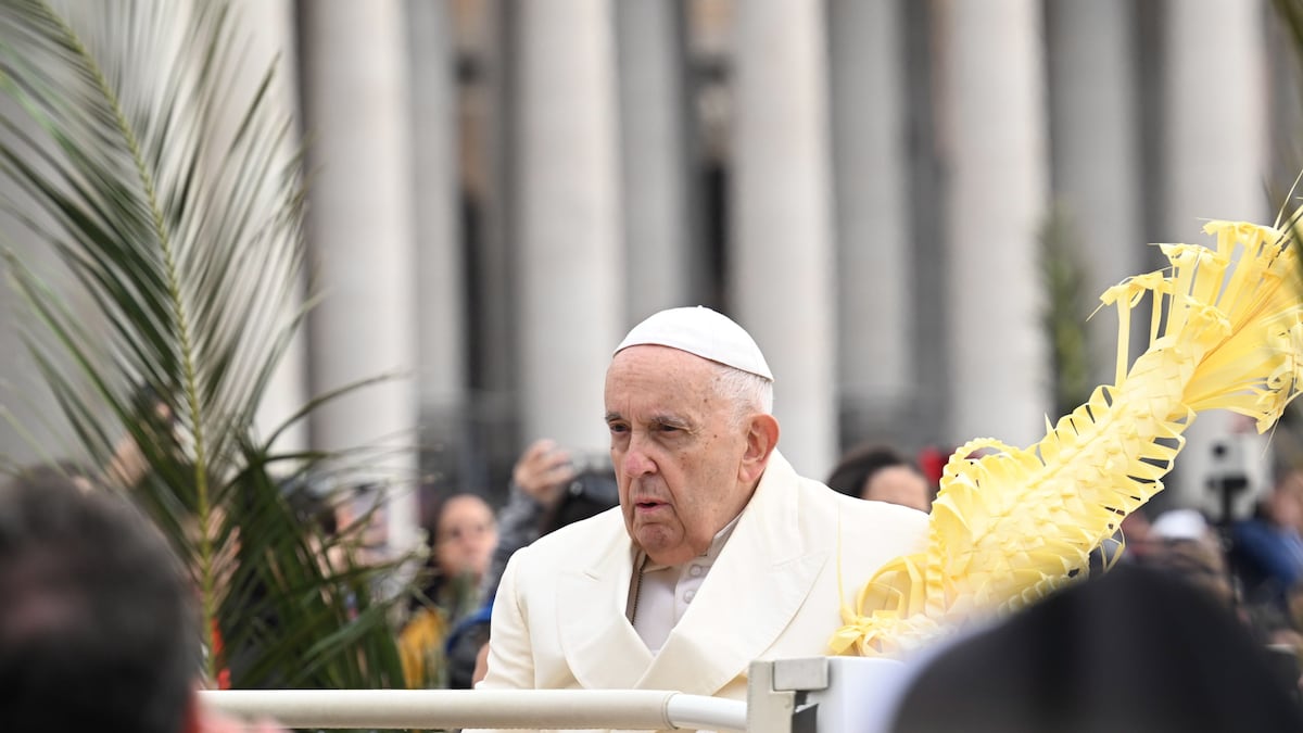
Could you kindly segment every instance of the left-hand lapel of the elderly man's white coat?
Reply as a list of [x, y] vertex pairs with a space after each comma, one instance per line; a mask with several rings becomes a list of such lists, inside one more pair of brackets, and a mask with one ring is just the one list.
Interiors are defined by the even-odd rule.
[[585, 549], [592, 562], [562, 571], [556, 583], [562, 651], [581, 686], [631, 689], [652, 664], [652, 652], [624, 616], [633, 558], [623, 522], [605, 546]]

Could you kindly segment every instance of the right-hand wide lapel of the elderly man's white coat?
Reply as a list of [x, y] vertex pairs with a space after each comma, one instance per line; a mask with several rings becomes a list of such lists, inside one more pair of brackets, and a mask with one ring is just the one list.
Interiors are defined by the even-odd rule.
[[830, 549], [797, 528], [797, 480], [775, 453], [710, 575], [637, 687], [714, 694], [787, 627]]

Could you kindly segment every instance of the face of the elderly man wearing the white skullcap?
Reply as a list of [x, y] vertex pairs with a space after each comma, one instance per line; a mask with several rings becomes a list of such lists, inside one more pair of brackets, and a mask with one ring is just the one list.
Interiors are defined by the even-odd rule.
[[717, 390], [718, 368], [688, 352], [635, 346], [606, 372], [606, 423], [629, 536], [654, 562], [706, 552], [751, 500], [749, 425]]

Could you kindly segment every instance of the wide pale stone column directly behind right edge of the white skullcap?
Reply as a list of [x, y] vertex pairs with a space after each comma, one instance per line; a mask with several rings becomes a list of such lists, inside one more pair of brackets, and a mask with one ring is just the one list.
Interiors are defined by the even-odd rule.
[[736, 13], [726, 303], [774, 370], [779, 447], [822, 476], [838, 454], [826, 17], [783, 0]]

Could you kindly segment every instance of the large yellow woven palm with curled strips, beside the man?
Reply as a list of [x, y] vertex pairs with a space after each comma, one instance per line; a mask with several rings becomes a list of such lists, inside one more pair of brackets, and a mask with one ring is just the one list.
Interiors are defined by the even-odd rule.
[[[954, 453], [926, 549], [889, 562], [853, 604], [843, 599], [835, 653], [893, 655], [1044, 597], [1084, 575], [1089, 552], [1162, 490], [1197, 412], [1231, 410], [1260, 432], [1274, 424], [1303, 376], [1293, 231], [1234, 222], [1204, 231], [1216, 249], [1162, 245], [1170, 269], [1101, 297], [1119, 313], [1113, 386], [1025, 450], [984, 438]], [[1145, 295], [1149, 347], [1128, 370], [1131, 309]], [[966, 458], [981, 449], [995, 453]]]

